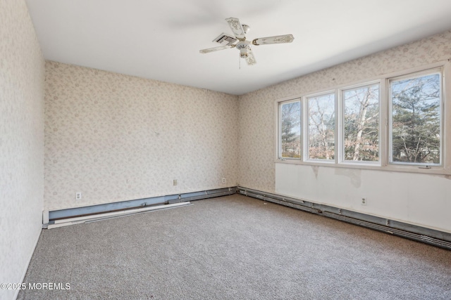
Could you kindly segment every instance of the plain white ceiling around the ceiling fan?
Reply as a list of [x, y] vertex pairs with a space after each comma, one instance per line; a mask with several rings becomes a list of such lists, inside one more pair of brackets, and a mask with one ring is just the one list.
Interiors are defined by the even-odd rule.
[[[47, 60], [235, 95], [451, 29], [450, 0], [26, 0]], [[248, 66], [212, 40], [240, 18]]]

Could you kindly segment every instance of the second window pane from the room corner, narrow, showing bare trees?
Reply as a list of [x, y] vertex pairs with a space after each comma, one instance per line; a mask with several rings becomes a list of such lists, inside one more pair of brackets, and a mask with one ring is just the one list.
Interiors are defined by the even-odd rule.
[[307, 98], [309, 105], [309, 159], [335, 157], [335, 94]]

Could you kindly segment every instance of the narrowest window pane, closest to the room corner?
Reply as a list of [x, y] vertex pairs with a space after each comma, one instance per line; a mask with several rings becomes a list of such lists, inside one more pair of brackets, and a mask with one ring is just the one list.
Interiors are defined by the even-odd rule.
[[301, 103], [280, 106], [280, 153], [282, 157], [301, 157]]

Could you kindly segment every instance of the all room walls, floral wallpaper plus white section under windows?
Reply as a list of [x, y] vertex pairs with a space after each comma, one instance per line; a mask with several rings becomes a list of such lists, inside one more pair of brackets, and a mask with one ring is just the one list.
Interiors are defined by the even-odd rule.
[[45, 62], [25, 1], [0, 0], [0, 41], [0, 282], [25, 274], [42, 209], [235, 185], [451, 233], [450, 176], [277, 162], [275, 113], [281, 98], [448, 60], [451, 31], [243, 96]]

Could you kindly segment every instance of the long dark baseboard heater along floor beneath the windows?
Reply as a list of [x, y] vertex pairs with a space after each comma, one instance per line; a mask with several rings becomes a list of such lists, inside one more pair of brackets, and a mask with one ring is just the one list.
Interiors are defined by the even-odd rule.
[[451, 250], [451, 233], [238, 186], [237, 193]]

